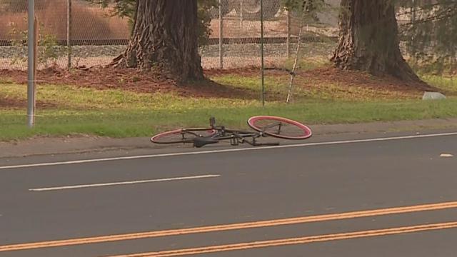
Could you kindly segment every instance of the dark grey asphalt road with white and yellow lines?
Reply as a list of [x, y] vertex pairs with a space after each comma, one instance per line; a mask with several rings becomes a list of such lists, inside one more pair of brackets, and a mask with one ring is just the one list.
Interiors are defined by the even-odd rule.
[[456, 256], [456, 135], [203, 150], [0, 166], [0, 256]]

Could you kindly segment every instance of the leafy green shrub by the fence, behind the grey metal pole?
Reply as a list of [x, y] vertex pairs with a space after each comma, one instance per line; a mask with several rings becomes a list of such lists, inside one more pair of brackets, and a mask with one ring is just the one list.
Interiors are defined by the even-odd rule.
[[[13, 40], [11, 41], [12, 46], [16, 46], [16, 49], [19, 49], [13, 59], [11, 59], [11, 64], [16, 64], [18, 61], [25, 62], [27, 61], [27, 42], [28, 42], [28, 31], [21, 31], [17, 29], [16, 24], [11, 23], [11, 30], [9, 34]], [[59, 42], [55, 35], [52, 34], [43, 34], [41, 31], [44, 31], [44, 25], [40, 24], [40, 34], [38, 40], [38, 63], [44, 64], [44, 66], [49, 66], [50, 64], [55, 64], [57, 58], [61, 56], [62, 51], [59, 47]]]

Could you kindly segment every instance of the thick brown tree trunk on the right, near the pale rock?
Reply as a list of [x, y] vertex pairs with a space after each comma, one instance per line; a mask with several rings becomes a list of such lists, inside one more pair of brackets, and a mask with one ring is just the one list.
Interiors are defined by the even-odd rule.
[[401, 55], [392, 0], [342, 0], [333, 63], [341, 69], [420, 81]]

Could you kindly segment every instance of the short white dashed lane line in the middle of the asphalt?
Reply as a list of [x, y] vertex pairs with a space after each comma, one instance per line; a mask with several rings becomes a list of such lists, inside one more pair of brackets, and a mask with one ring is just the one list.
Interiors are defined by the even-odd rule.
[[87, 185], [74, 185], [74, 186], [56, 186], [49, 188], [30, 188], [29, 191], [56, 191], [56, 190], [66, 190], [66, 189], [78, 189], [78, 188], [92, 188], [100, 186], [121, 186], [121, 185], [131, 185], [137, 183], [153, 183], [153, 182], [164, 182], [164, 181], [181, 181], [188, 179], [199, 179], [199, 178], [217, 178], [221, 175], [202, 175], [202, 176], [186, 176], [180, 178], [158, 178], [158, 179], [149, 179], [142, 181], [124, 181], [124, 182], [113, 182], [113, 183], [94, 183]]

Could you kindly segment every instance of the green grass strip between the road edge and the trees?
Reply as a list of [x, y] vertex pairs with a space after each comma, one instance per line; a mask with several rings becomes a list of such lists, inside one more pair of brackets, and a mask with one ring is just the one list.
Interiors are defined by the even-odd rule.
[[[218, 76], [221, 84], [258, 90], [258, 77]], [[435, 86], [457, 91], [453, 79], [427, 77]], [[444, 101], [374, 99], [376, 92], [366, 89], [328, 91], [296, 90], [296, 101], [283, 104], [288, 76], [268, 76], [268, 94], [281, 101], [267, 101], [263, 108], [257, 100], [202, 99], [174, 94], [144, 94], [121, 90], [81, 89], [75, 86], [39, 86], [37, 99], [52, 104], [40, 108], [36, 127], [26, 127], [25, 106], [21, 109], [0, 107], [0, 141], [31, 136], [92, 134], [98, 136], [151, 136], [166, 129], [185, 126], [207, 126], [210, 116], [220, 124], [246, 128], [246, 120], [254, 115], [286, 116], [305, 124], [340, 124], [366, 121], [396, 121], [457, 116], [457, 97]], [[353, 90], [353, 91], [351, 91]], [[350, 97], [361, 95], [357, 98]], [[365, 95], [366, 97], [364, 97]], [[368, 95], [370, 97], [368, 97]], [[373, 97], [371, 97], [373, 96]], [[26, 86], [9, 81], [0, 83], [2, 99], [26, 100]], [[0, 105], [1, 106], [1, 105]]]

